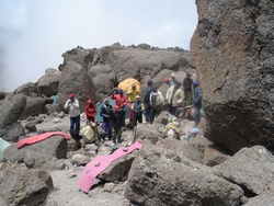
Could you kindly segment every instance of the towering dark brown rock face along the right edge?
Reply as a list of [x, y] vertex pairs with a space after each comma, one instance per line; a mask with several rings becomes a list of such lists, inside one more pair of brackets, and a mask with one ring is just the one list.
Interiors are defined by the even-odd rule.
[[197, 0], [191, 52], [203, 92], [205, 137], [232, 153], [274, 151], [274, 2]]

